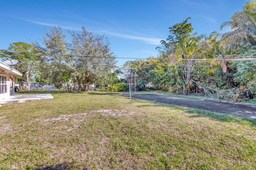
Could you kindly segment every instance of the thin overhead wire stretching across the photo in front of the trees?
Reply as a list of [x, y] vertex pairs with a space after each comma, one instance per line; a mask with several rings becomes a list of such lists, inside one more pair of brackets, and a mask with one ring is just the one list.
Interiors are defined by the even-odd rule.
[[[20, 54], [17, 52], [10, 52], [10, 54]], [[33, 54], [33, 55], [42, 55], [42, 54]], [[129, 59], [129, 60], [172, 60], [172, 61], [246, 61], [246, 60], [256, 60], [255, 58], [143, 58], [143, 57], [129, 57], [129, 56], [124, 56], [124, 57], [107, 57], [107, 56], [89, 56], [89, 55], [63, 55], [60, 54], [58, 56], [63, 56], [63, 57], [85, 57], [85, 58], [118, 58], [118, 59]]]

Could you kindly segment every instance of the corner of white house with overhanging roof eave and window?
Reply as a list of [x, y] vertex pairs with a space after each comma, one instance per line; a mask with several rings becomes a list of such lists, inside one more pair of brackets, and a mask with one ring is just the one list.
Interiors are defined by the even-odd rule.
[[0, 61], [0, 100], [10, 97], [10, 88], [14, 87], [16, 76], [22, 76], [22, 74]]

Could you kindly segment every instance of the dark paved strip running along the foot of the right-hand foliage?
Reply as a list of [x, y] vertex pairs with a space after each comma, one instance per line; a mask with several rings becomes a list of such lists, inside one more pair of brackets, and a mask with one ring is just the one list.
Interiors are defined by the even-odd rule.
[[[127, 96], [127, 95], [125, 95]], [[256, 118], [256, 105], [222, 100], [207, 100], [188, 97], [171, 97], [154, 94], [132, 95], [133, 98], [145, 99], [159, 103], [203, 109], [205, 111], [232, 114], [247, 118]]]

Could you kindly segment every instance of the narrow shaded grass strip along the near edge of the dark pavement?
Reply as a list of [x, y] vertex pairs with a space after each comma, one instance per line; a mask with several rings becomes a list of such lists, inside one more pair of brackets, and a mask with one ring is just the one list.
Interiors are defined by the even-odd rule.
[[[237, 123], [241, 123], [241, 124], [256, 126], [255, 118], [254, 119], [246, 118], [246, 117], [235, 116], [235, 115], [231, 115], [231, 114], [205, 111], [202, 109], [187, 108], [187, 107], [175, 106], [175, 105], [171, 105], [171, 104], [162, 104], [162, 103], [157, 103], [157, 102], [149, 101], [149, 100], [140, 100], [140, 99], [135, 99], [135, 100], [137, 100], [139, 103], [143, 103], [143, 104], [145, 104], [145, 101], [147, 101], [148, 103], [154, 103], [156, 106], [172, 107], [172, 108], [179, 109], [180, 111], [184, 111], [189, 114], [197, 114], [197, 115], [191, 115], [190, 118], [205, 116], [205, 117], [211, 117], [214, 120], [218, 120], [218, 121], [222, 121], [222, 122], [237, 122]], [[146, 105], [142, 105], [142, 106], [146, 106]], [[148, 106], [150, 106], [150, 105], [148, 105]]]

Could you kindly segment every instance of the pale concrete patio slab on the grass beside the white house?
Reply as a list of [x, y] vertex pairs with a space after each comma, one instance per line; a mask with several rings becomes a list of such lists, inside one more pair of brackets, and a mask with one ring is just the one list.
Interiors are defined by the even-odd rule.
[[0, 104], [7, 103], [23, 103], [29, 100], [42, 100], [42, 99], [53, 99], [54, 97], [51, 94], [30, 94], [30, 95], [15, 95], [10, 98], [0, 100]]

